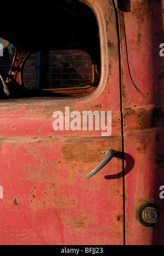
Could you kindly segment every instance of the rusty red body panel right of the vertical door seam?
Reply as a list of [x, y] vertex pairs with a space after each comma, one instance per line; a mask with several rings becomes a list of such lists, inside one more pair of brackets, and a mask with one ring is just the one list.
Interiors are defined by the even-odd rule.
[[[132, 156], [125, 175], [126, 245], [163, 244], [163, 59], [161, 1], [130, 1], [119, 9], [124, 151]], [[126, 174], [126, 173], [125, 173]], [[139, 209], [157, 207], [154, 226], [140, 223]]]

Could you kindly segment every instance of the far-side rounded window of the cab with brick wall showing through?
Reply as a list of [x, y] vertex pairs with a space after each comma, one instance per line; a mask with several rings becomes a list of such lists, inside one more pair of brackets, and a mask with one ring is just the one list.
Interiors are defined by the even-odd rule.
[[91, 56], [82, 50], [40, 51], [28, 57], [24, 66], [23, 83], [31, 90], [67, 91], [81, 96], [93, 90], [93, 82]]

